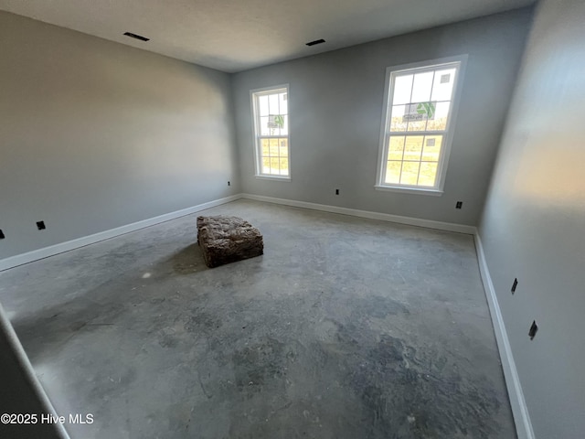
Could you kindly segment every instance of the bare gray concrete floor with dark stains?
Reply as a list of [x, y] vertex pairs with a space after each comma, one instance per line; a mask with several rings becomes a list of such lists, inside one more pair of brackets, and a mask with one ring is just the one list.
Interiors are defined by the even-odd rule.
[[515, 438], [473, 238], [239, 200], [0, 273], [58, 414], [91, 438]]

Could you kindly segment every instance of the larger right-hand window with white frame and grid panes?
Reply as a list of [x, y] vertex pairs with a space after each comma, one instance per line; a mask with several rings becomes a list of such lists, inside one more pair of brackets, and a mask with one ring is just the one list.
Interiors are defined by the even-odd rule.
[[378, 188], [441, 193], [465, 59], [388, 68]]

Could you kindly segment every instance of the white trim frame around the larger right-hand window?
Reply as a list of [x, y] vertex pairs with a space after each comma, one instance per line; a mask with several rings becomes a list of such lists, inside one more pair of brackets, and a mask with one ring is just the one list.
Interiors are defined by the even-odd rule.
[[[457, 123], [457, 114], [459, 113], [459, 102], [461, 99], [461, 91], [463, 89], [463, 79], [465, 78], [465, 67], [467, 64], [467, 54], [458, 55], [455, 57], [448, 57], [448, 58], [441, 58], [441, 59], [430, 59], [427, 61], [420, 61], [420, 62], [413, 62], [410, 64], [402, 64], [399, 66], [392, 66], [386, 69], [386, 80], [384, 84], [384, 102], [382, 107], [382, 123], [380, 123], [380, 143], [378, 149], [378, 170], [376, 172], [376, 184], [375, 188], [377, 190], [384, 190], [389, 192], [402, 192], [402, 193], [409, 193], [409, 194], [418, 194], [418, 195], [431, 195], [431, 196], [438, 196], [441, 197], [443, 194], [443, 187], [445, 185], [445, 178], [447, 176], [447, 166], [449, 164], [449, 155], [451, 155], [451, 146], [453, 140], [453, 134], [455, 132], [455, 126]], [[440, 64], [447, 64], [450, 62], [459, 62], [459, 70], [457, 71], [457, 82], [455, 84], [455, 91], [453, 93], [452, 98], [452, 109], [451, 109], [451, 117], [447, 122], [448, 126], [445, 130], [445, 142], [443, 145], [443, 150], [441, 152], [441, 158], [439, 160], [439, 165], [437, 166], [437, 175], [439, 177], [439, 182], [436, 187], [418, 187], [418, 186], [408, 186], [408, 185], [388, 185], [382, 182], [382, 176], [384, 175], [384, 168], [386, 166], [386, 158], [387, 158], [387, 151], [386, 151], [386, 128], [388, 123], [388, 109], [390, 106], [390, 79], [393, 72], [400, 72], [402, 70], [412, 70], [412, 69], [421, 69], [421, 68], [429, 68], [430, 70], [433, 67], [436, 67]], [[413, 132], [414, 134], [415, 132]]]

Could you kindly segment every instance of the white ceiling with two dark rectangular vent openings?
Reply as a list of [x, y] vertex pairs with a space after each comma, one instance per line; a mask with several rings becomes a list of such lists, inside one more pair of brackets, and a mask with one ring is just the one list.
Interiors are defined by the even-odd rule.
[[[0, 9], [235, 72], [534, 0], [0, 0]], [[123, 37], [126, 31], [151, 38]], [[312, 48], [308, 41], [324, 38]]]

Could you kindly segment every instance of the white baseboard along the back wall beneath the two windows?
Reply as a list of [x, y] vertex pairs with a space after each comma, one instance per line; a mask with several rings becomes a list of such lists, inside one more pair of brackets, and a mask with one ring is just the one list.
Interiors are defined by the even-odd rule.
[[296, 201], [293, 199], [263, 197], [261, 195], [241, 194], [242, 198], [254, 199], [256, 201], [265, 201], [267, 203], [282, 204], [285, 206], [293, 206], [295, 208], [323, 210], [324, 212], [341, 213], [342, 215], [350, 215], [353, 217], [379, 219], [382, 221], [398, 222], [400, 224], [408, 224], [410, 226], [426, 227], [428, 229], [456, 231], [458, 233], [466, 233], [468, 235], [475, 234], [473, 226], [466, 226], [463, 224], [453, 224], [451, 222], [433, 221], [431, 219], [419, 219], [411, 217], [401, 217], [399, 215], [391, 215], [388, 213], [370, 212], [367, 210], [338, 208], [336, 206], [328, 206], [325, 204], [308, 203], [306, 201]]

